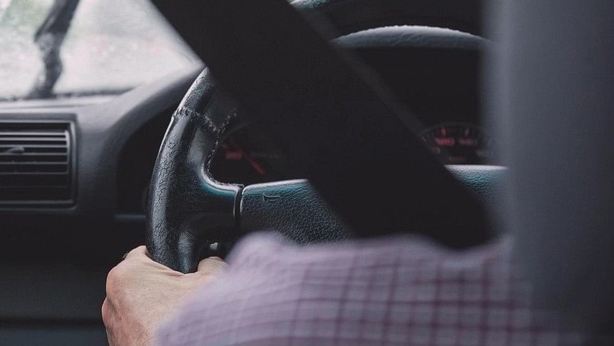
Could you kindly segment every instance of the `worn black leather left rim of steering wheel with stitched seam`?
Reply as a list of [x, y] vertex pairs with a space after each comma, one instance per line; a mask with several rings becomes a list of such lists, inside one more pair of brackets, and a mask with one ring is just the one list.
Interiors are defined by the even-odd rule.
[[209, 173], [233, 114], [221, 97], [212, 101], [216, 96], [209, 80], [203, 72], [173, 114], [150, 185], [148, 249], [155, 260], [183, 273], [196, 269], [208, 244], [229, 240], [227, 230], [235, 228], [242, 190]]

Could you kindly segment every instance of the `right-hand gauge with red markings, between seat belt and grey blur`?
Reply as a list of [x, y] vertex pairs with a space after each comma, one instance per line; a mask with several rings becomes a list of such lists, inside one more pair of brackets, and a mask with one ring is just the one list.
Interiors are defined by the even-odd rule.
[[426, 128], [422, 139], [446, 165], [491, 164], [491, 138], [471, 123], [440, 123]]

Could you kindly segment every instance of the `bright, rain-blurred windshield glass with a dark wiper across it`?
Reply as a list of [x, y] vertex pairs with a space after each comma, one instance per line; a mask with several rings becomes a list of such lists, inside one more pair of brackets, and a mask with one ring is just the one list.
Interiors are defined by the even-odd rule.
[[197, 61], [148, 0], [0, 0], [0, 101], [118, 95]]

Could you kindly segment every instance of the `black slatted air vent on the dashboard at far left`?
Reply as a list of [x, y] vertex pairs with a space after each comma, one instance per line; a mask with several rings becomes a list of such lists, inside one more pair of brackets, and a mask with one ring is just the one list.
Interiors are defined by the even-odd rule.
[[71, 123], [0, 122], [0, 207], [73, 203]]

